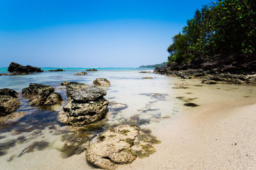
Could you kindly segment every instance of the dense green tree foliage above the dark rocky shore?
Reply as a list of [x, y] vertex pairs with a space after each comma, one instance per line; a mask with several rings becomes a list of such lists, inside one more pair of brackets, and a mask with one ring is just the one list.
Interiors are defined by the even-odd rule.
[[196, 10], [168, 47], [170, 62], [248, 62], [256, 57], [256, 1], [218, 0]]

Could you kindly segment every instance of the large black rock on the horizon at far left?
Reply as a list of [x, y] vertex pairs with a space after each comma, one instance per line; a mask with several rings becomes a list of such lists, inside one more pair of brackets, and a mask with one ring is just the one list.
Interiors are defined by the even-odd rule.
[[39, 67], [22, 66], [20, 64], [17, 64], [16, 62], [11, 62], [10, 66], [8, 67], [8, 71], [11, 74], [28, 74], [34, 72], [43, 72]]

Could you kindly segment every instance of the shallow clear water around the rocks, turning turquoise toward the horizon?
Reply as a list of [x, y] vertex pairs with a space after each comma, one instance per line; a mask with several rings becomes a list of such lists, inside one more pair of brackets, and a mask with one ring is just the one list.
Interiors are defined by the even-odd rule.
[[[154, 134], [154, 129], [164, 129], [166, 123], [172, 124], [175, 117], [182, 115], [184, 110], [193, 110], [190, 106], [197, 108], [221, 101], [254, 99], [256, 96], [255, 87], [203, 85], [196, 79], [186, 80], [189, 83], [188, 89], [173, 89], [177, 86], [175, 83], [185, 80], [154, 73], [139, 73], [152, 69], [107, 68], [87, 72], [84, 76], [74, 75], [85, 71], [82, 68], [68, 68], [64, 72], [49, 72], [49, 69], [54, 68], [44, 68], [43, 73], [0, 76], [0, 89], [10, 88], [21, 92], [29, 83], [44, 83], [60, 92], [66, 103], [66, 90], [60, 85], [62, 81], [92, 85], [95, 78], [107, 78], [111, 82], [111, 86], [106, 88], [108, 115], [95, 124], [70, 128], [57, 121], [61, 106], [56, 106], [54, 111], [39, 110], [29, 106], [28, 99], [20, 96], [22, 104], [17, 111], [24, 111], [26, 115], [20, 120], [0, 125], [0, 169], [94, 169], [85, 160], [84, 143], [113, 125], [136, 124], [141, 129], [150, 129]], [[6, 72], [6, 68], [0, 71]], [[153, 78], [143, 79], [147, 76]], [[157, 137], [157, 134], [154, 136]], [[63, 141], [70, 145], [60, 150], [58, 146]]]

